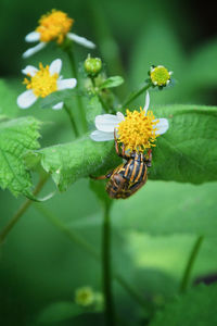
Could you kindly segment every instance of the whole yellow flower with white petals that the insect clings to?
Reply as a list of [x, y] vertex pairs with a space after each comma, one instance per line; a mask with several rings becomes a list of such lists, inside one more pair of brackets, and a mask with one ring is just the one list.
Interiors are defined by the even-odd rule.
[[146, 92], [143, 110], [126, 111], [113, 114], [95, 116], [97, 130], [90, 137], [94, 141], [107, 141], [114, 139], [116, 133], [117, 141], [125, 145], [126, 150], [143, 151], [155, 146], [156, 137], [163, 135], [169, 128], [167, 118], [155, 118], [152, 111], [148, 111], [150, 96]]

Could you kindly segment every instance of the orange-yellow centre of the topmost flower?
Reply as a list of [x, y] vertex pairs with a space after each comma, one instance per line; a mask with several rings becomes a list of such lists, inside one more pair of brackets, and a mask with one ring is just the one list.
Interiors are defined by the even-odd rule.
[[42, 42], [56, 40], [58, 43], [62, 43], [73, 23], [74, 20], [69, 18], [66, 13], [53, 9], [41, 16], [36, 32], [40, 34]]

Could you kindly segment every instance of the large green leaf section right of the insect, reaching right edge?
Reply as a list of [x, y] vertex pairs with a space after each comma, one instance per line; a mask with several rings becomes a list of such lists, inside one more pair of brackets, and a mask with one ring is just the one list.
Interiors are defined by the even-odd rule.
[[153, 150], [150, 178], [201, 184], [217, 179], [217, 108], [169, 105], [155, 110], [167, 117], [168, 131]]

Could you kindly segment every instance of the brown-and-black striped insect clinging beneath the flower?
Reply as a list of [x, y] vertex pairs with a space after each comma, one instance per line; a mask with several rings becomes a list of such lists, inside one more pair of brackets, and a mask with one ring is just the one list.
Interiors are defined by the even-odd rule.
[[127, 162], [118, 165], [112, 172], [106, 175], [94, 177], [95, 179], [105, 179], [106, 191], [113, 199], [128, 198], [139, 190], [148, 179], [148, 167], [152, 163], [152, 151], [148, 151], [148, 159], [143, 152], [132, 151], [130, 154], [125, 152], [125, 146], [122, 147], [122, 153], [119, 152], [119, 146], [115, 138], [115, 150], [118, 156], [125, 159]]

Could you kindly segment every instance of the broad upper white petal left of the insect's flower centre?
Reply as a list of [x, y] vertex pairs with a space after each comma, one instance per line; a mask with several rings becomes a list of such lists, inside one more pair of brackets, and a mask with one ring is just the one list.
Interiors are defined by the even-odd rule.
[[124, 115], [118, 112], [118, 114], [102, 114], [95, 116], [95, 127], [98, 130], [105, 133], [114, 133], [114, 128], [124, 120]]

